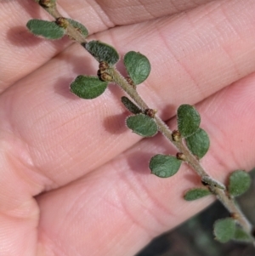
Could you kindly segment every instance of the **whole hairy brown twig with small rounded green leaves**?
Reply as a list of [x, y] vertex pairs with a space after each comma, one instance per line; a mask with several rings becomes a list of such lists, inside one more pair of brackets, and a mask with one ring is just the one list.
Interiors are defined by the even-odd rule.
[[[71, 82], [71, 92], [78, 97], [91, 100], [105, 92], [109, 83], [120, 86], [129, 96], [122, 97], [122, 104], [132, 113], [126, 125], [133, 133], [142, 137], [163, 134], [177, 149], [176, 156], [158, 154], [150, 159], [149, 168], [159, 178], [168, 178], [187, 164], [201, 178], [201, 186], [184, 193], [184, 200], [193, 201], [203, 196], [214, 195], [229, 211], [229, 218], [218, 219], [214, 225], [214, 236], [219, 242], [235, 240], [255, 244], [254, 231], [250, 222], [238, 207], [235, 197], [243, 194], [250, 186], [251, 179], [244, 170], [235, 170], [229, 175], [228, 183], [213, 179], [201, 166], [210, 145], [207, 132], [200, 127], [201, 117], [195, 107], [184, 104], [178, 107], [177, 129], [171, 130], [140, 97], [137, 87], [150, 75], [150, 61], [143, 54], [130, 51], [123, 57], [127, 77], [116, 69], [120, 56], [111, 45], [100, 41], [87, 41], [88, 30], [76, 20], [62, 17], [56, 0], [36, 0], [43, 9], [54, 17], [54, 21], [29, 20], [28, 29], [36, 36], [59, 39], [65, 35], [80, 43], [95, 60], [99, 71], [95, 76], [79, 75]], [[189, 203], [189, 202], [187, 202]]]

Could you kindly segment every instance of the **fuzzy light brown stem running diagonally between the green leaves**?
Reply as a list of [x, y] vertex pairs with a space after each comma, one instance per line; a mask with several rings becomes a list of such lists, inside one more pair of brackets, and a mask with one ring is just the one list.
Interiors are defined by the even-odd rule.
[[[38, 2], [38, 0], [36, 0], [36, 2]], [[42, 6], [42, 8], [45, 9], [49, 14], [51, 14], [55, 19], [61, 17], [56, 6], [51, 8], [45, 8]], [[76, 40], [77, 43], [87, 43], [82, 34], [70, 24], [67, 26], [66, 35]], [[133, 101], [139, 106], [142, 111], [149, 109], [149, 106], [144, 102], [144, 100], [142, 100], [136, 89], [132, 85], [130, 85], [124, 77], [122, 77], [119, 71], [117, 71], [115, 68], [110, 67], [107, 69], [107, 72], [113, 78], [112, 82], [115, 82], [117, 85], [119, 85], [133, 99]], [[254, 236], [252, 236], [252, 225], [246, 219], [246, 216], [241, 213], [241, 209], [238, 208], [235, 200], [229, 196], [225, 186], [218, 180], [213, 179], [207, 174], [205, 169], [201, 167], [199, 159], [197, 159], [197, 157], [194, 156], [184, 145], [183, 139], [175, 141], [173, 139], [173, 132], [170, 130], [170, 128], [167, 127], [167, 124], [163, 122], [160, 117], [155, 116], [154, 118], [161, 134], [163, 134], [169, 141], [171, 141], [171, 143], [175, 145], [179, 152], [184, 154], [184, 162], [186, 162], [191, 168], [195, 170], [195, 173], [201, 177], [201, 181], [208, 185], [209, 190], [212, 192], [212, 194], [214, 194], [218, 198], [218, 200], [222, 202], [224, 207], [228, 209], [231, 215], [235, 216], [235, 220], [237, 221], [237, 223], [241, 225], [246, 233], [250, 234], [252, 243], [255, 246], [255, 238]]]

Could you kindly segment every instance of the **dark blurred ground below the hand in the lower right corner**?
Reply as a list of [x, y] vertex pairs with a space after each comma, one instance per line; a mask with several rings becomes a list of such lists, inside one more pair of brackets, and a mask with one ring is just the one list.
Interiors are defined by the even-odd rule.
[[[251, 176], [251, 188], [238, 197], [238, 202], [246, 217], [255, 225], [255, 168]], [[156, 237], [135, 256], [255, 256], [255, 247], [251, 244], [214, 240], [213, 223], [224, 217], [229, 217], [229, 213], [219, 202], [215, 202], [175, 230]]]

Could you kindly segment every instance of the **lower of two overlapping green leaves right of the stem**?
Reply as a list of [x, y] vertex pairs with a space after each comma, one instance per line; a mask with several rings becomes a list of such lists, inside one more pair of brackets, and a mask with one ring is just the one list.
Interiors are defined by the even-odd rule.
[[210, 146], [210, 139], [205, 130], [198, 128], [194, 134], [190, 135], [185, 140], [193, 155], [199, 158], [206, 155]]

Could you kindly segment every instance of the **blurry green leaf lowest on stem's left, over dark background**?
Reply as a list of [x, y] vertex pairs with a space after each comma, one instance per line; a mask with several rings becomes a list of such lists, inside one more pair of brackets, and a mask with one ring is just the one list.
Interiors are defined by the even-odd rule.
[[228, 242], [235, 236], [235, 220], [231, 218], [218, 219], [214, 223], [213, 233], [218, 242]]

